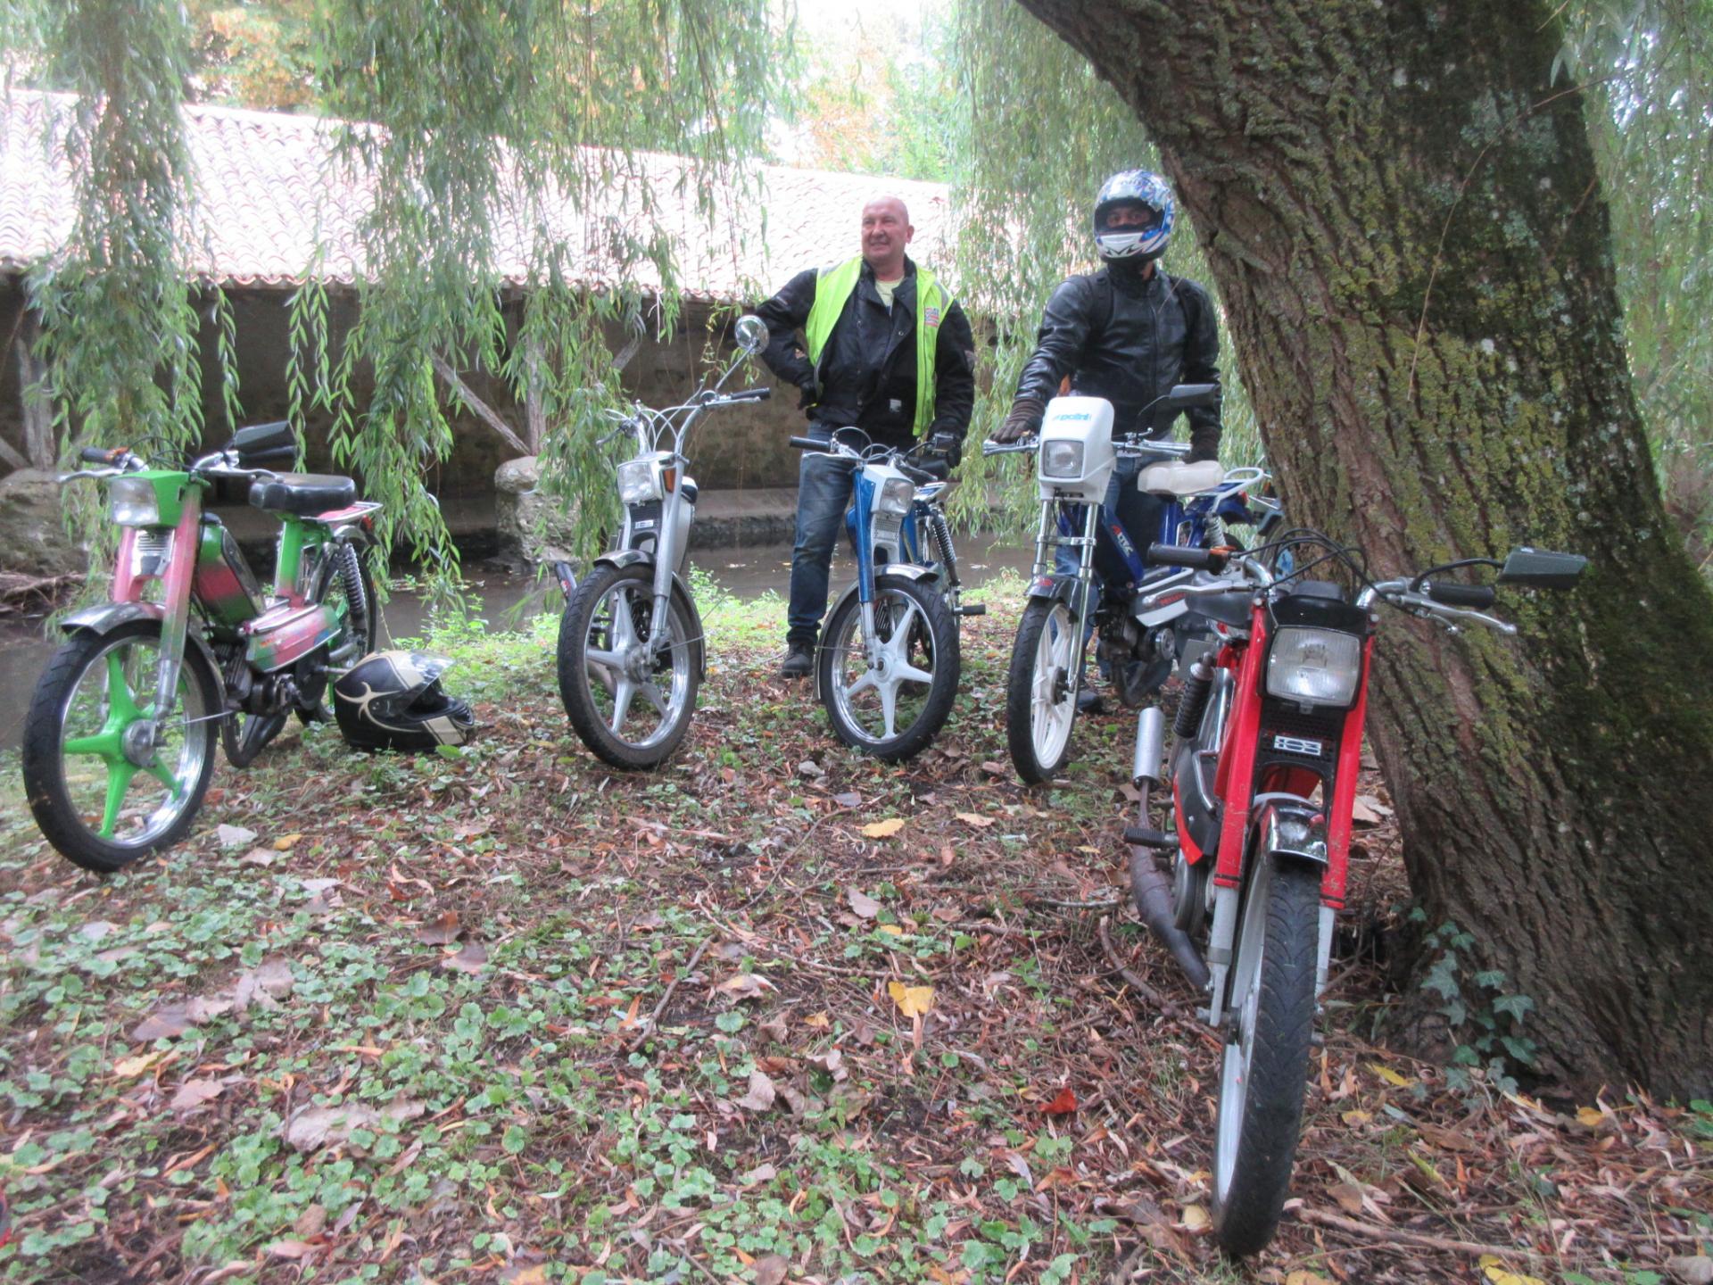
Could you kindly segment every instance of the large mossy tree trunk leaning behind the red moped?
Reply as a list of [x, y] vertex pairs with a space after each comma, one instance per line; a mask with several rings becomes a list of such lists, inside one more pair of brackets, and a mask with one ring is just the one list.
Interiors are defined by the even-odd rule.
[[1023, 3], [1160, 140], [1293, 519], [1386, 574], [1593, 560], [1506, 595], [1516, 639], [1388, 613], [1370, 735], [1415, 893], [1535, 1001], [1545, 1069], [1713, 1093], [1713, 598], [1655, 485], [1552, 5]]

